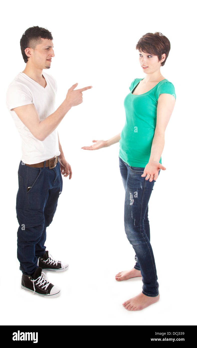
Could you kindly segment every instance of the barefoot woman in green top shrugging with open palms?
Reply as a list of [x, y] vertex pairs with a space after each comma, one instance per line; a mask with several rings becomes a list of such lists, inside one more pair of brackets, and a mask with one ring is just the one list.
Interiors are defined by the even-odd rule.
[[142, 293], [123, 303], [127, 310], [142, 310], [159, 300], [155, 259], [150, 244], [148, 202], [160, 169], [164, 133], [175, 105], [173, 84], [160, 66], [170, 52], [170, 41], [161, 33], [147, 33], [137, 42], [145, 78], [136, 78], [125, 97], [125, 126], [109, 140], [93, 140], [84, 150], [98, 150], [120, 142], [119, 167], [125, 188], [124, 224], [135, 251], [135, 266], [116, 275], [116, 280], [142, 276]]

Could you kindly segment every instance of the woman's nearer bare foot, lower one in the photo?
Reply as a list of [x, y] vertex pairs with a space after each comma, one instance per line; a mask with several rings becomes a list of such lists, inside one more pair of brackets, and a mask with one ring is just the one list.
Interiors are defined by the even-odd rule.
[[159, 301], [159, 294], [155, 297], [152, 297], [152, 296], [146, 296], [141, 292], [141, 294], [124, 302], [123, 306], [127, 310], [142, 310], [150, 306], [150, 304], [155, 303], [157, 301]]

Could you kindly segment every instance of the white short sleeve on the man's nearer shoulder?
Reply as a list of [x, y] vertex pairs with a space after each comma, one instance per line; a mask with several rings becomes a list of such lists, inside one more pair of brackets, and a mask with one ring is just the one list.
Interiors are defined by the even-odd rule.
[[7, 108], [12, 111], [18, 106], [33, 104], [33, 98], [29, 89], [23, 84], [9, 85], [6, 93]]

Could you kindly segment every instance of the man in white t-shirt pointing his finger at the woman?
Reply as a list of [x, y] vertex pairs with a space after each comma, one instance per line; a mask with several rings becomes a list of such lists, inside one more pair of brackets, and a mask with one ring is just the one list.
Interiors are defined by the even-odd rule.
[[60, 289], [46, 280], [42, 270], [65, 271], [68, 264], [53, 259], [46, 251], [46, 228], [53, 220], [62, 192], [61, 174], [72, 177], [56, 128], [72, 106], [82, 103], [82, 92], [92, 88], [74, 90], [78, 84], [73, 85], [55, 111], [57, 83], [42, 72], [50, 69], [55, 56], [52, 40], [52, 34], [42, 27], [33, 26], [24, 32], [20, 45], [26, 67], [10, 83], [6, 95], [7, 107], [22, 139], [16, 197], [21, 287], [50, 298], [60, 295]]

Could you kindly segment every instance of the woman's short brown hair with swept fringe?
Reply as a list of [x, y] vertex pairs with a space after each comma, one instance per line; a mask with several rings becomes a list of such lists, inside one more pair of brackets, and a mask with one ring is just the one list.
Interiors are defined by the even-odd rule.
[[137, 42], [136, 49], [144, 53], [158, 56], [159, 61], [162, 59], [162, 54], [165, 53], [166, 58], [161, 63], [161, 66], [163, 66], [170, 52], [170, 41], [160, 32], [155, 32], [154, 34], [147, 33]]

